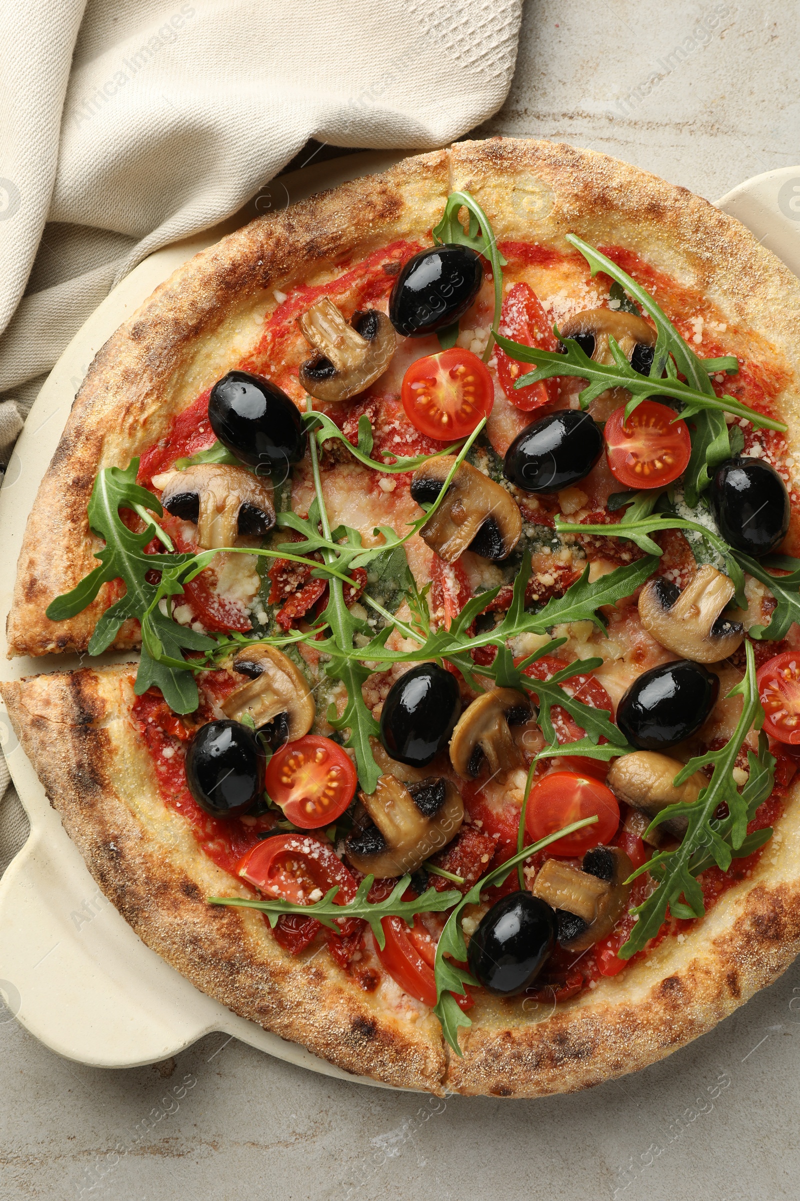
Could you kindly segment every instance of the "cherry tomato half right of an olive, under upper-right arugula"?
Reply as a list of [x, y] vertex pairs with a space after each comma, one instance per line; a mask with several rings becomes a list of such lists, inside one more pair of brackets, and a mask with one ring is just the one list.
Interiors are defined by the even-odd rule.
[[606, 422], [606, 455], [615, 479], [626, 488], [663, 488], [686, 470], [692, 444], [674, 408], [643, 400], [625, 425], [625, 405]]

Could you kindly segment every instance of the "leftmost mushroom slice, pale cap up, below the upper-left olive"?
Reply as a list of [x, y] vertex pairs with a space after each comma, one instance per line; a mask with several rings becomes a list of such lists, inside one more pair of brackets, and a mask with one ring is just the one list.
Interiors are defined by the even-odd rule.
[[152, 482], [168, 513], [197, 524], [204, 550], [233, 546], [236, 534], [264, 534], [275, 525], [272, 482], [246, 467], [204, 462]]

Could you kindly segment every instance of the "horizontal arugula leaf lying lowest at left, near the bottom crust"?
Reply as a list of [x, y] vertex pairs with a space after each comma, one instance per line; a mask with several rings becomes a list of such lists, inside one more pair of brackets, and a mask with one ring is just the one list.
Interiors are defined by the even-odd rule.
[[402, 918], [410, 926], [415, 914], [441, 913], [461, 901], [461, 892], [457, 892], [455, 889], [437, 892], [433, 888], [427, 889], [411, 901], [403, 901], [403, 894], [411, 883], [410, 876], [403, 876], [390, 895], [384, 897], [383, 901], [368, 901], [367, 896], [373, 880], [373, 876], [365, 876], [353, 900], [342, 904], [336, 903], [336, 895], [339, 891], [338, 884], [330, 889], [321, 901], [315, 901], [313, 904], [295, 904], [291, 901], [284, 901], [283, 897], [264, 898], [263, 901], [253, 901], [247, 897], [206, 897], [206, 901], [209, 904], [227, 904], [240, 909], [257, 909], [259, 913], [266, 914], [272, 928], [277, 925], [278, 918], [287, 914], [314, 918], [323, 926], [327, 926], [329, 930], [337, 932], [341, 931], [342, 921], [360, 918], [368, 924], [381, 951], [386, 945], [386, 936], [381, 926], [384, 918]]

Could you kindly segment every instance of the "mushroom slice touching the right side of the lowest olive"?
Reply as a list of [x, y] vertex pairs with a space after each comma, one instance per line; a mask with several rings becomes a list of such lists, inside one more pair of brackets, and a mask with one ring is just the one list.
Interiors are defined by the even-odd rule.
[[534, 880], [533, 894], [557, 910], [559, 943], [583, 951], [606, 938], [625, 913], [633, 865], [619, 847], [595, 847], [582, 868], [548, 859]]

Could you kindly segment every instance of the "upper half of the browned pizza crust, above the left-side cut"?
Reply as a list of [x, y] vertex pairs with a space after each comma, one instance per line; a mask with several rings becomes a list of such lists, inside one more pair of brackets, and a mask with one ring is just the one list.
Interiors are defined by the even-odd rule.
[[[625, 245], [692, 285], [729, 321], [727, 341], [786, 377], [777, 407], [800, 458], [800, 281], [733, 217], [700, 197], [591, 150], [492, 138], [405, 159], [381, 175], [261, 217], [180, 267], [98, 352], [38, 490], [19, 555], [10, 655], [85, 651], [97, 599], [70, 621], [44, 610], [95, 566], [86, 504], [100, 467], [126, 467], [173, 417], [236, 366], [260, 334], [276, 287], [329, 273], [396, 238], [431, 240], [447, 193], [469, 189], [499, 239], [570, 249]], [[114, 643], [138, 645], [127, 622]]]

